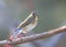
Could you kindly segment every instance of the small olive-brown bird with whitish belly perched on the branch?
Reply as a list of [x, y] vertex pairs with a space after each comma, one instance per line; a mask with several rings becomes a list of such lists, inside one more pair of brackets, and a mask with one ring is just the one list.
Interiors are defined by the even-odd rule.
[[[37, 25], [37, 12], [32, 12], [15, 30], [14, 33], [9, 37], [12, 39], [24, 37], [25, 34], [32, 31]], [[6, 47], [12, 47], [12, 45], [6, 45]]]

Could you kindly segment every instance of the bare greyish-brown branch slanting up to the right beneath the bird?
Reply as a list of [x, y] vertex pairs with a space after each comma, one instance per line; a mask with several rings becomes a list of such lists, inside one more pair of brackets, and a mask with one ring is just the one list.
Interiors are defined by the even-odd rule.
[[66, 26], [62, 26], [62, 27], [58, 27], [58, 28], [55, 28], [55, 30], [51, 30], [48, 32], [44, 32], [44, 33], [34, 34], [34, 35], [31, 35], [31, 36], [13, 39], [12, 42], [0, 40], [0, 45], [4, 45], [4, 44], [19, 45], [19, 44], [23, 44], [23, 43], [33, 42], [33, 40], [36, 40], [36, 39], [46, 38], [46, 37], [63, 33], [63, 32], [66, 32]]

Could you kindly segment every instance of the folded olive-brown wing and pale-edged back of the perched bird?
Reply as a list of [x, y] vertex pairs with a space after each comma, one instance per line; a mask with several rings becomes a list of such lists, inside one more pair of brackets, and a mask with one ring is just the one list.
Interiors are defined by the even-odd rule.
[[33, 23], [35, 17], [36, 17], [36, 14], [34, 15], [34, 12], [32, 12], [19, 26], [18, 28], [22, 28], [26, 25], [29, 25], [30, 23]]

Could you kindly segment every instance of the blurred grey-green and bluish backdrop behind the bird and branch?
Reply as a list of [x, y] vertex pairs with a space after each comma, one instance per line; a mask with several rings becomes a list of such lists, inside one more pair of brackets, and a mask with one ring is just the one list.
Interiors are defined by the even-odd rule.
[[[33, 11], [38, 11], [38, 24], [32, 31], [42, 33], [66, 25], [66, 0], [0, 0], [0, 40]], [[21, 44], [14, 47], [66, 47], [66, 33]]]

